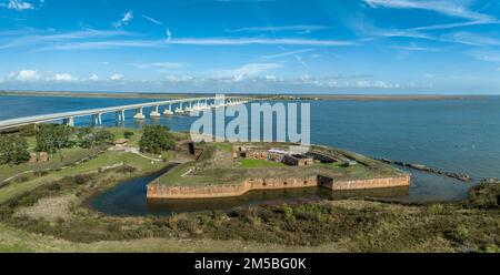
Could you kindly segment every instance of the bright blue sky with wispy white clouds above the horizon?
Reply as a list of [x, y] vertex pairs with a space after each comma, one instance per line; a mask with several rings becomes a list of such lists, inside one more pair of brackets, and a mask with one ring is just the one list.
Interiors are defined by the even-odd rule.
[[489, 0], [0, 0], [0, 89], [499, 94]]

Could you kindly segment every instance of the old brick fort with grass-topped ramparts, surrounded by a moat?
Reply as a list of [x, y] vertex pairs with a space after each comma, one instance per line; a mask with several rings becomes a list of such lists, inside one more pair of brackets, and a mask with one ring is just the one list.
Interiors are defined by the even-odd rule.
[[296, 153], [286, 143], [204, 143], [200, 155], [148, 185], [148, 198], [213, 198], [252, 190], [321, 186], [366, 190], [409, 186], [410, 176], [347, 151], [312, 146]]

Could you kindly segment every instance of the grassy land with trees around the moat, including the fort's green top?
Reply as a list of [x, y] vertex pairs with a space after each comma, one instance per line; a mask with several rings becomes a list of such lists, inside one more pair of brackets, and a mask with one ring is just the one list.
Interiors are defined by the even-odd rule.
[[[357, 196], [170, 216], [113, 216], [96, 211], [89, 202], [151, 173], [166, 172], [158, 180], [161, 185], [194, 186], [231, 183], [242, 179], [240, 172], [286, 179], [302, 172], [313, 176], [331, 173], [347, 180], [400, 172], [369, 157], [323, 146], [313, 146], [311, 152], [337, 162], [319, 155], [316, 160], [314, 155], [291, 155], [296, 159], [290, 162], [277, 162], [270, 155], [278, 156], [288, 146], [276, 143], [192, 146], [189, 134], [162, 126], [47, 125], [32, 130], [0, 135], [1, 149], [7, 149], [0, 164], [1, 252], [500, 251], [500, 181], [493, 179], [473, 187], [462, 202], [409, 204]], [[260, 159], [264, 152], [266, 160]], [[302, 166], [294, 166], [293, 160]], [[264, 170], [269, 174], [260, 174]], [[277, 183], [284, 185], [283, 181]]]

